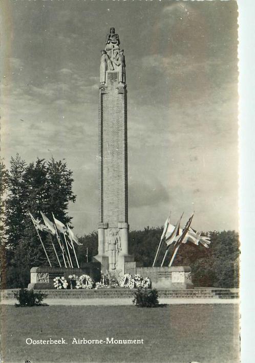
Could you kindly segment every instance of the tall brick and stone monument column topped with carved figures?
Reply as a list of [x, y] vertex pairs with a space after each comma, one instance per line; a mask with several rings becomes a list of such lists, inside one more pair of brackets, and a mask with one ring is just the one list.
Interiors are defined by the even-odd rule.
[[101, 50], [98, 255], [103, 272], [124, 273], [128, 250], [128, 139], [125, 57], [115, 28]]

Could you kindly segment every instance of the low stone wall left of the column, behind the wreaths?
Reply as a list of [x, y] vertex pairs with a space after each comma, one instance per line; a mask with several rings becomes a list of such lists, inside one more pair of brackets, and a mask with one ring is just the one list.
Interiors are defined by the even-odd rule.
[[68, 278], [69, 275], [89, 275], [95, 281], [100, 280], [100, 263], [91, 262], [84, 264], [81, 268], [65, 268], [65, 267], [32, 267], [30, 270], [30, 284], [28, 289], [54, 289], [53, 279], [56, 276], [65, 276]]

